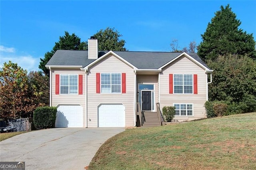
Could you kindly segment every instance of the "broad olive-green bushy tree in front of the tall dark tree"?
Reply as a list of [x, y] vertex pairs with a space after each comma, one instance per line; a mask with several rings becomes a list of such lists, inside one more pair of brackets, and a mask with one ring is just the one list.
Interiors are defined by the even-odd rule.
[[241, 112], [256, 111], [256, 61], [247, 56], [226, 55], [209, 59], [213, 69], [210, 101], [226, 101]]

